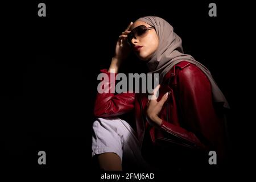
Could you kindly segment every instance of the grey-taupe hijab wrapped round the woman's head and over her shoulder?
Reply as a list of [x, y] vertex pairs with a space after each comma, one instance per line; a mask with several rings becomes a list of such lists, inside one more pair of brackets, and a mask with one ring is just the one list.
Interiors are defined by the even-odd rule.
[[156, 49], [154, 55], [147, 62], [147, 67], [150, 73], [159, 73], [159, 80], [161, 82], [164, 75], [166, 75], [166, 73], [180, 61], [185, 60], [195, 64], [205, 73], [212, 85], [213, 101], [223, 102], [223, 106], [229, 109], [229, 104], [220, 88], [218, 88], [210, 71], [203, 64], [196, 61], [191, 55], [183, 53], [182, 41], [180, 37], [175, 34], [174, 28], [170, 23], [157, 16], [144, 16], [137, 19], [137, 21], [142, 21], [150, 26], [154, 26], [159, 38], [158, 49]]

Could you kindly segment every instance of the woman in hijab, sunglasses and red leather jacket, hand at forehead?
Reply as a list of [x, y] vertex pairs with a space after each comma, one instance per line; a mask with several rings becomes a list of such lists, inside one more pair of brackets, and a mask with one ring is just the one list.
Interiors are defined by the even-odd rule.
[[[133, 169], [148, 164], [160, 169], [203, 165], [211, 150], [216, 151], [218, 162], [222, 161], [222, 110], [229, 105], [208, 69], [183, 53], [172, 26], [156, 16], [130, 23], [119, 36], [109, 70], [102, 72], [115, 76], [130, 50], [146, 61], [150, 73], [159, 73], [160, 85], [154, 90], [159, 97], [148, 100], [147, 94], [97, 94], [94, 114], [99, 118], [93, 124], [92, 149], [100, 167], [121, 170], [125, 159]], [[113, 84], [110, 80], [104, 83]], [[120, 118], [130, 111], [135, 119]]]

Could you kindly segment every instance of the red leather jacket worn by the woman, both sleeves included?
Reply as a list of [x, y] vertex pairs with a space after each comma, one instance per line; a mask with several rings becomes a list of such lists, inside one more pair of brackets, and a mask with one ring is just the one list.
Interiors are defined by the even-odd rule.
[[[102, 72], [107, 73], [106, 70]], [[153, 143], [162, 139], [189, 148], [211, 148], [222, 155], [224, 125], [214, 109], [210, 82], [200, 68], [187, 61], [176, 64], [164, 77], [158, 100], [166, 92], [170, 94], [159, 114], [162, 119], [160, 129], [149, 126], [146, 121], [147, 94], [98, 93], [94, 115], [112, 117], [134, 109], [141, 142], [150, 127], [147, 131]]]

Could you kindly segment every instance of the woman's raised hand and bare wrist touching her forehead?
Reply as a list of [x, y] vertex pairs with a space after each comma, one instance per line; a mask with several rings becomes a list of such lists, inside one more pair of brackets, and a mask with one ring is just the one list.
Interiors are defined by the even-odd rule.
[[126, 28], [126, 30], [122, 32], [122, 34], [119, 36], [119, 39], [115, 46], [115, 55], [112, 58], [108, 72], [118, 73], [118, 69], [122, 61], [125, 60], [128, 57], [129, 53], [131, 52], [131, 48], [127, 43], [127, 34], [129, 34], [130, 32], [132, 24], [133, 22], [131, 22], [129, 26]]

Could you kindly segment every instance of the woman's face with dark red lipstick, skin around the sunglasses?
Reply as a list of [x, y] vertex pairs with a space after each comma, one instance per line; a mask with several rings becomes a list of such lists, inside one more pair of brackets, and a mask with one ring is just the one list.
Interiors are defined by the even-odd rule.
[[[141, 21], [136, 21], [133, 23], [131, 30], [138, 26], [144, 25], [146, 27], [151, 27], [149, 24]], [[148, 30], [146, 36], [142, 38], [133, 38], [131, 40], [131, 46], [135, 55], [141, 60], [150, 60], [153, 53], [158, 48], [159, 40], [158, 35], [156, 34], [155, 29]]]

